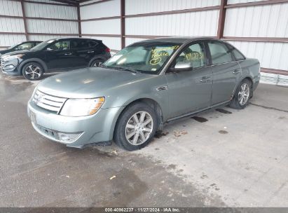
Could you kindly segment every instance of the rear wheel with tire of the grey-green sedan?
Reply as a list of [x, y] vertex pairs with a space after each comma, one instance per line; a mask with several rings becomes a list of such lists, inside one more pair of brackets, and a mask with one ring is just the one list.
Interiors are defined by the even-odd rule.
[[244, 79], [235, 91], [234, 97], [229, 106], [234, 109], [244, 109], [251, 97], [252, 83], [248, 79]]

